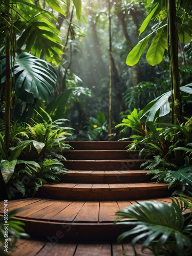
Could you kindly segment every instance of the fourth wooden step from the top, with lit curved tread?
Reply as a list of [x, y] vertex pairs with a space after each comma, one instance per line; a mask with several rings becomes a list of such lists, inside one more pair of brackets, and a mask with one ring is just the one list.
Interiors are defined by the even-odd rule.
[[62, 182], [72, 183], [140, 183], [151, 182], [147, 170], [69, 170], [60, 177]]

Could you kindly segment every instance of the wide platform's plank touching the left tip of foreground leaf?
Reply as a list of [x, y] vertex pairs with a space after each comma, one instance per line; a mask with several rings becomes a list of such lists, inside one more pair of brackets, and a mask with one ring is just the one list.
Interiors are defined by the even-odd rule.
[[99, 208], [99, 222], [113, 222], [117, 218], [115, 213], [119, 210], [116, 201], [102, 201]]

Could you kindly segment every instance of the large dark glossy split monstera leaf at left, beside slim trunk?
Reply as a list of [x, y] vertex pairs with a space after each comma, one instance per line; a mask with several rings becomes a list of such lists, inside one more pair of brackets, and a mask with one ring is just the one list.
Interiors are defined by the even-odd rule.
[[56, 75], [46, 61], [27, 52], [15, 60], [15, 93], [24, 101], [33, 103], [34, 98], [46, 101], [54, 92]]

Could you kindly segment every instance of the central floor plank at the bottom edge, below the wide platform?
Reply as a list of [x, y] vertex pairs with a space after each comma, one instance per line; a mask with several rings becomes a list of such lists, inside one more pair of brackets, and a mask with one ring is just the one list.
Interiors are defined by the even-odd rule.
[[78, 244], [74, 256], [111, 256], [111, 244]]

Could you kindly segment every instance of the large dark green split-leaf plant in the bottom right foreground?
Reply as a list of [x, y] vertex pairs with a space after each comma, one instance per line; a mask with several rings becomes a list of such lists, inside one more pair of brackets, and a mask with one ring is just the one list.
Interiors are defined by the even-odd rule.
[[[119, 210], [115, 224], [135, 227], [120, 234], [117, 241], [134, 235], [132, 244], [144, 238], [142, 250], [149, 248], [155, 256], [190, 255], [192, 215], [183, 215], [183, 211], [188, 207], [191, 210], [191, 202], [191, 197], [183, 196], [172, 199], [172, 204], [145, 201]], [[122, 221], [127, 218], [137, 221]]]

